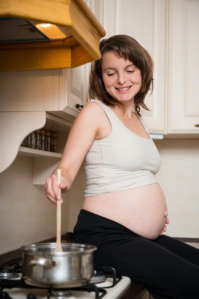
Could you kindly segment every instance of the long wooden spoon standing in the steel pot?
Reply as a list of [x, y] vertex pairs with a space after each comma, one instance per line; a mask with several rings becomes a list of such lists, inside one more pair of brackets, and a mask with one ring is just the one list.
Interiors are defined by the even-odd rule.
[[[59, 188], [59, 192], [61, 194], [61, 189], [59, 184], [62, 181], [62, 172], [61, 169], [57, 169], [57, 184]], [[61, 200], [57, 200], [57, 237], [56, 237], [56, 247], [55, 252], [60, 252], [62, 250], [61, 246]]]

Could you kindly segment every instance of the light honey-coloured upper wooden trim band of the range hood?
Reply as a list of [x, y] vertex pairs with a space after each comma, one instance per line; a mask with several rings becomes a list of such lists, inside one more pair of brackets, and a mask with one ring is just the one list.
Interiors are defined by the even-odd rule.
[[101, 36], [105, 36], [104, 28], [84, 0], [1, 0], [0, 15], [16, 16], [67, 27], [73, 25], [71, 9], [74, 7], [82, 11], [84, 19], [87, 19]]

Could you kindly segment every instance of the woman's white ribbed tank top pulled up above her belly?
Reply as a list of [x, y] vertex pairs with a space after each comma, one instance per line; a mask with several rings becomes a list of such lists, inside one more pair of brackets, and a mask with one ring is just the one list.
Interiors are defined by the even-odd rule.
[[[95, 140], [86, 155], [84, 197], [156, 183], [154, 174], [160, 169], [160, 154], [153, 140], [131, 132], [101, 101], [92, 102], [103, 107], [112, 131], [109, 136]], [[143, 125], [143, 119], [140, 121]]]

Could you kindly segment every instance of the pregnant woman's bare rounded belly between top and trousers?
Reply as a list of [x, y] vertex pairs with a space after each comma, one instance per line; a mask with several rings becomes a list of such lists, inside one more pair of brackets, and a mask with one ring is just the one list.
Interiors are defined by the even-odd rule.
[[82, 208], [151, 240], [160, 235], [167, 219], [167, 202], [158, 183], [85, 197]]

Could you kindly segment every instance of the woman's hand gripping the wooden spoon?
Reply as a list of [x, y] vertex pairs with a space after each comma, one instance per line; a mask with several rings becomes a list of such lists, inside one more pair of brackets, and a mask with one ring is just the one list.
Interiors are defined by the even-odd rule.
[[[62, 176], [59, 188], [62, 193], [70, 189], [70, 182], [64, 176]], [[55, 204], [57, 203], [57, 200], [61, 200], [61, 202], [63, 202], [59, 188], [57, 184], [57, 174], [53, 173], [51, 176], [47, 177], [45, 183], [45, 194], [46, 197]]]

